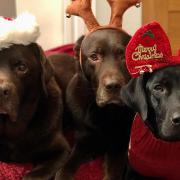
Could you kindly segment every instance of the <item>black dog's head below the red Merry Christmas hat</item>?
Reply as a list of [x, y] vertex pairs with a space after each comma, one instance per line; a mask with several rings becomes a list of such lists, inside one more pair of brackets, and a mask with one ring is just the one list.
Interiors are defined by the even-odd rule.
[[139, 112], [154, 134], [180, 140], [180, 66], [145, 74], [122, 88], [124, 102]]

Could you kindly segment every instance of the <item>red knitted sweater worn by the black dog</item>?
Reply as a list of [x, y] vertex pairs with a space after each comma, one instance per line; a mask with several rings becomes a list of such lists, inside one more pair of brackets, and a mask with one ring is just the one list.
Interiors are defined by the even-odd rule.
[[129, 161], [144, 176], [180, 180], [180, 142], [156, 139], [138, 114], [131, 131]]

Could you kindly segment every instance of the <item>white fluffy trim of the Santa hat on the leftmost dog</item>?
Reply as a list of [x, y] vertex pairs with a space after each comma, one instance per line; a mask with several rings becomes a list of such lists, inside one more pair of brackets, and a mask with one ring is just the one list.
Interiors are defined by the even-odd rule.
[[22, 13], [15, 19], [0, 17], [0, 50], [13, 44], [28, 45], [39, 35], [36, 18], [30, 13]]

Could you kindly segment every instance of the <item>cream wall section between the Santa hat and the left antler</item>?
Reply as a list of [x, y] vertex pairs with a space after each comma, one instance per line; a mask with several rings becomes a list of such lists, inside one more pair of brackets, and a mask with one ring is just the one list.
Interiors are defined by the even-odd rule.
[[17, 14], [29, 11], [37, 17], [41, 36], [38, 43], [46, 50], [63, 44], [62, 0], [16, 0]]

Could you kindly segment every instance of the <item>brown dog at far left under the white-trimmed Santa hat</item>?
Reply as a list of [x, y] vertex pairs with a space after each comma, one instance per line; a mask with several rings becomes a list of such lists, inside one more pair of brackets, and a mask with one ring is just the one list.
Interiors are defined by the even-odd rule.
[[49, 180], [65, 162], [62, 108], [53, 68], [37, 44], [0, 51], [0, 160], [33, 163], [24, 180]]

